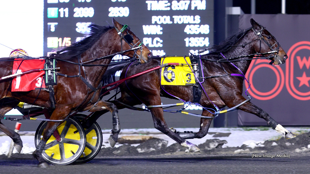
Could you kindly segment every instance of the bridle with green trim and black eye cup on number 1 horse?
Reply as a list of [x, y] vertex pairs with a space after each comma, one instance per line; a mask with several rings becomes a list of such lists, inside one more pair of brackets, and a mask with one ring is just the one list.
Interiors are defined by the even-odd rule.
[[[137, 37], [139, 39], [139, 41], [137, 43], [133, 43], [134, 38], [131, 36], [131, 34], [128, 33], [128, 31], [130, 31], [130, 27], [128, 25], [124, 25], [121, 30], [118, 30], [115, 25], [114, 25], [114, 28], [116, 29], [117, 34], [121, 37], [121, 49], [122, 50], [123, 50], [122, 39], [124, 39], [126, 41], [126, 43], [130, 46], [131, 49], [134, 48], [134, 47], [139, 47], [140, 55], [137, 54], [137, 49], [135, 49], [134, 50], [135, 54], [133, 55], [133, 57], [138, 56], [137, 59], [139, 59], [139, 62], [141, 62], [142, 50], [143, 50], [143, 48], [142, 48], [143, 42], [141, 42], [140, 39], [137, 36], [135, 36], [135, 37]], [[126, 30], [126, 28], [127, 28], [127, 30]], [[126, 32], [125, 32], [125, 30], [126, 30]], [[126, 33], [126, 35], [125, 35], [125, 33]], [[140, 44], [138, 45], [138, 43], [140, 43]]]

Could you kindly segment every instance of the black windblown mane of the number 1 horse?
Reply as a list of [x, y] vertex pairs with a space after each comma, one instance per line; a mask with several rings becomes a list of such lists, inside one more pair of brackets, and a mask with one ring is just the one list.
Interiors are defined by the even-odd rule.
[[70, 59], [71, 57], [75, 57], [84, 53], [87, 49], [91, 48], [91, 46], [93, 46], [96, 41], [99, 40], [102, 34], [113, 28], [113, 26], [99, 26], [91, 24], [88, 26], [88, 28], [90, 29], [88, 37], [85, 37], [78, 42], [72, 43], [70, 46], [67, 46], [64, 49], [57, 51], [55, 58]]

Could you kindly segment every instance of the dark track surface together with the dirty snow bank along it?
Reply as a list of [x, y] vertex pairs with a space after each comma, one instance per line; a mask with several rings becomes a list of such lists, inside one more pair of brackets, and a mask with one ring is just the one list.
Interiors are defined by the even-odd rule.
[[[126, 141], [124, 141], [126, 143]], [[3, 173], [309, 173], [310, 133], [296, 138], [265, 141], [256, 147], [222, 146], [225, 140], [210, 139], [200, 144], [201, 151], [190, 153], [179, 144], [151, 138], [137, 146], [124, 144], [117, 148], [102, 148], [87, 163], [67, 166], [36, 167], [31, 154], [0, 155]], [[309, 147], [309, 148], [308, 148]], [[273, 156], [274, 155], [274, 156]]]

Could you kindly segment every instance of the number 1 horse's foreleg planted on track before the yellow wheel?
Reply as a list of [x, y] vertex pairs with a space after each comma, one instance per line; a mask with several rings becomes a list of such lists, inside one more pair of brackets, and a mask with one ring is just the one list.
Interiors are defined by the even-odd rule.
[[[56, 108], [51, 115], [51, 120], [63, 120], [71, 111], [72, 107], [66, 105], [56, 104]], [[51, 137], [56, 128], [61, 122], [49, 121], [46, 128], [43, 131], [43, 137], [38, 144], [37, 149], [33, 152], [33, 157], [39, 161], [38, 167], [48, 167], [48, 164], [42, 157], [42, 151], [47, 143], [47, 140]]]

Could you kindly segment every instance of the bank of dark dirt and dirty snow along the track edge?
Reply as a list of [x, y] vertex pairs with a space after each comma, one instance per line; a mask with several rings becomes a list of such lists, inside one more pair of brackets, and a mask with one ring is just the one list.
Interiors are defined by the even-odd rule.
[[[126, 141], [124, 141], [126, 143]], [[298, 135], [295, 138], [280, 140], [265, 141], [264, 143], [256, 144], [256, 147], [242, 145], [241, 147], [226, 147], [222, 146], [227, 143], [225, 140], [210, 139], [205, 143], [199, 145], [201, 149], [197, 154], [252, 154], [252, 153], [300, 153], [310, 151], [310, 132]], [[124, 144], [118, 148], [102, 148], [97, 157], [104, 156], [145, 156], [145, 155], [158, 155], [158, 154], [175, 154], [175, 153], [188, 153], [184, 147], [178, 143], [167, 146], [167, 141], [152, 138], [138, 146], [131, 146]]]

